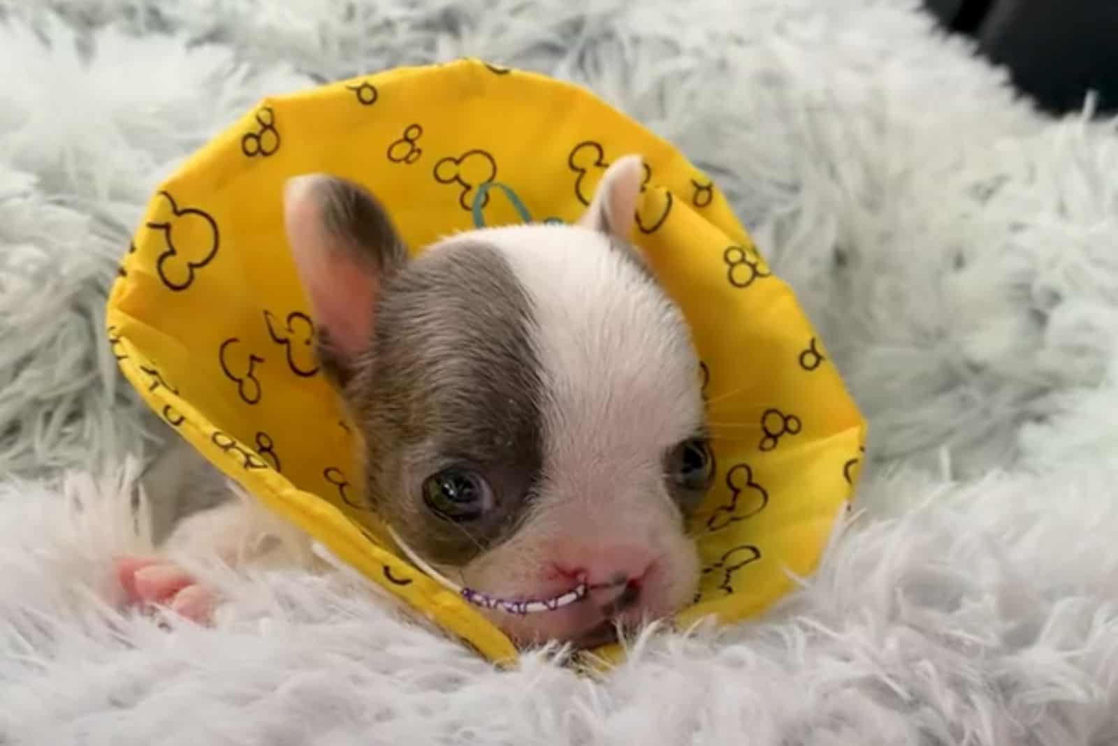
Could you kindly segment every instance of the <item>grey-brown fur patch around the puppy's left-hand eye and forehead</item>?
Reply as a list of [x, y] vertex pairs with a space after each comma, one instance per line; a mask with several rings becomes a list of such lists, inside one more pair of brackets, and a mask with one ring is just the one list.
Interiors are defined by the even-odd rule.
[[[532, 308], [506, 260], [481, 242], [424, 252], [387, 279], [368, 360], [345, 386], [366, 443], [372, 506], [420, 555], [463, 565], [506, 537], [542, 463]], [[447, 467], [493, 490], [484, 517], [428, 510], [423, 484]]]

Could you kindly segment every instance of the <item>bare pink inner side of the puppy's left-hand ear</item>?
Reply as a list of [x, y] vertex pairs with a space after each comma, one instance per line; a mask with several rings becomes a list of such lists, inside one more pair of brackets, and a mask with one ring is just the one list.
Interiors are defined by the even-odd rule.
[[315, 326], [325, 329], [340, 356], [352, 360], [366, 352], [372, 337], [380, 279], [373, 262], [324, 229], [313, 194], [314, 179], [297, 176], [287, 182], [284, 226]]

